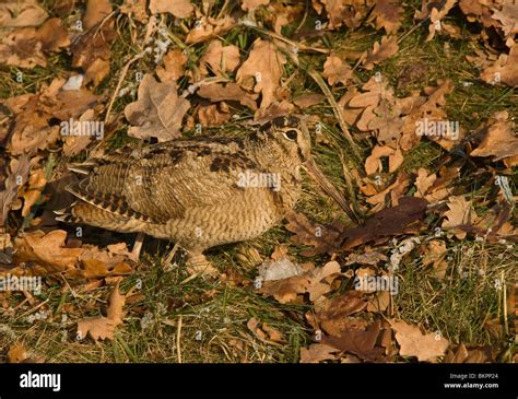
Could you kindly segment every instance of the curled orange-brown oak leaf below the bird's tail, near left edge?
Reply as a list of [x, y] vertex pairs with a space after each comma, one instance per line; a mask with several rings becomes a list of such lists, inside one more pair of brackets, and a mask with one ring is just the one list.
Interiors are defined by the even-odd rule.
[[73, 269], [84, 249], [67, 248], [66, 238], [67, 232], [62, 230], [24, 233], [14, 239], [14, 263], [34, 262], [47, 273]]

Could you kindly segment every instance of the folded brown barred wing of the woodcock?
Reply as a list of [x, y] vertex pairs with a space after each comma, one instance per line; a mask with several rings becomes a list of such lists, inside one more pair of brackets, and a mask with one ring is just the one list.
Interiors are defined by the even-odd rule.
[[243, 152], [240, 141], [186, 140], [162, 143], [90, 160], [75, 172], [86, 177], [69, 191], [98, 208], [163, 223], [181, 218], [188, 208], [232, 200], [250, 188], [240, 183], [262, 174]]

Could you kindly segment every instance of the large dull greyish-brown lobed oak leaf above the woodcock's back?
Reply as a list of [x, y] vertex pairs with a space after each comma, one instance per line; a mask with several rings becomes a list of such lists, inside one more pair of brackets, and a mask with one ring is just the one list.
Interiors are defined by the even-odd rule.
[[140, 82], [138, 98], [125, 108], [126, 119], [134, 125], [129, 128], [129, 136], [168, 141], [181, 134], [181, 120], [190, 103], [178, 96], [176, 82], [158, 83], [146, 73]]

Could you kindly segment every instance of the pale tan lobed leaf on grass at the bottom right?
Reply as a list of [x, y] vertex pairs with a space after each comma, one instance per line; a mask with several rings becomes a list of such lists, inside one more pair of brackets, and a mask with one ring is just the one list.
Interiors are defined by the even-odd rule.
[[436, 333], [423, 333], [417, 326], [402, 320], [388, 320], [396, 332], [401, 356], [416, 356], [420, 362], [435, 363], [438, 356], [446, 353], [449, 341]]

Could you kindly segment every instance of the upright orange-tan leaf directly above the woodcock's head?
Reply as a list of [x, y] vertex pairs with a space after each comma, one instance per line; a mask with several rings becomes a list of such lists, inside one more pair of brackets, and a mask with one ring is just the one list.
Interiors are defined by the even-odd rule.
[[285, 56], [276, 50], [273, 43], [258, 38], [237, 70], [236, 82], [254, 93], [261, 93], [261, 108], [267, 108], [275, 99], [281, 99], [278, 92], [284, 63]]

